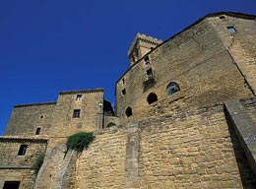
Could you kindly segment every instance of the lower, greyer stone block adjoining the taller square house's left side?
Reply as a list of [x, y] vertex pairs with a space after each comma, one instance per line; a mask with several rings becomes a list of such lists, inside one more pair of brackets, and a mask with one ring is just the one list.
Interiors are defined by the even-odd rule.
[[55, 104], [49, 102], [16, 105], [5, 135], [34, 136], [36, 128], [40, 128], [40, 135], [49, 135]]

